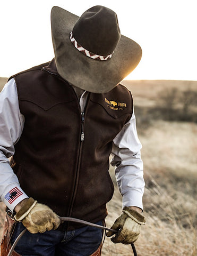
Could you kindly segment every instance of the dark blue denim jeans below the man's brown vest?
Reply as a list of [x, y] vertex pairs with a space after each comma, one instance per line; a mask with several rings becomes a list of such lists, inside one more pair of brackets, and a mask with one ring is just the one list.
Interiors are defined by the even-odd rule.
[[[102, 221], [97, 222], [102, 225]], [[24, 229], [17, 223], [11, 243]], [[85, 226], [72, 231], [50, 230], [31, 234], [26, 231], [14, 251], [22, 256], [89, 256], [95, 252], [102, 241], [101, 229]]]

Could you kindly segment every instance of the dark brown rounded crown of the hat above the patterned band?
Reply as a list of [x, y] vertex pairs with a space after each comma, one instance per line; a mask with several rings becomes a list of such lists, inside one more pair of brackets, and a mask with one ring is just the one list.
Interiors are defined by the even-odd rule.
[[73, 27], [73, 36], [84, 49], [98, 54], [112, 54], [121, 38], [117, 15], [104, 6], [85, 11]]

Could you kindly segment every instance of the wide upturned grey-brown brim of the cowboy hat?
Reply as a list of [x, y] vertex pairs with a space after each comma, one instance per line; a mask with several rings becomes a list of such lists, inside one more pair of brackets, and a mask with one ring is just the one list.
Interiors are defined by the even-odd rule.
[[118, 85], [138, 65], [142, 50], [132, 39], [121, 35], [112, 58], [94, 60], [77, 50], [70, 33], [79, 17], [61, 7], [51, 12], [52, 41], [59, 75], [90, 92], [106, 93]]

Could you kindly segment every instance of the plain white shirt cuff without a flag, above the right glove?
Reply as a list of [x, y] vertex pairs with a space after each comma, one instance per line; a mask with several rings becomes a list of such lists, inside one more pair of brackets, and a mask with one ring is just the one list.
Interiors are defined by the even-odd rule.
[[123, 208], [125, 206], [136, 206], [142, 209], [143, 211], [143, 203], [142, 203], [142, 195], [137, 190], [128, 191], [123, 195]]

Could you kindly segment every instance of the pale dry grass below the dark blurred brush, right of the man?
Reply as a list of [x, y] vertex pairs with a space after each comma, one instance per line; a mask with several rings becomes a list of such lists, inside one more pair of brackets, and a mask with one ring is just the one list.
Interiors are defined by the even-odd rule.
[[[194, 123], [152, 122], [139, 135], [143, 145], [143, 204], [147, 218], [135, 243], [139, 256], [194, 256], [196, 247], [197, 125]], [[110, 169], [115, 182], [114, 170]], [[108, 204], [110, 226], [121, 214], [117, 187]], [[131, 254], [130, 246], [106, 239], [104, 255]]]

